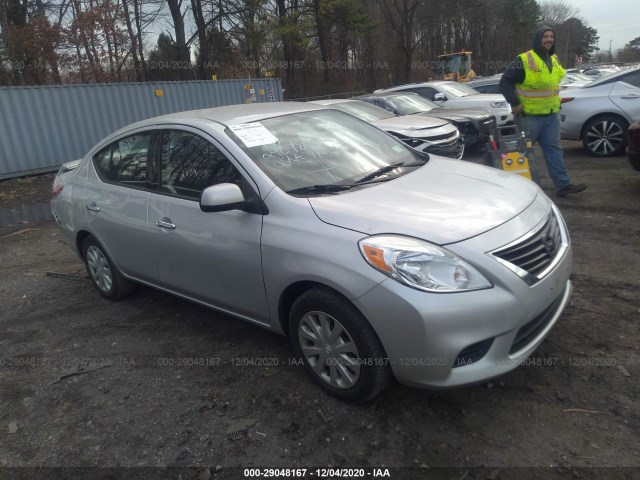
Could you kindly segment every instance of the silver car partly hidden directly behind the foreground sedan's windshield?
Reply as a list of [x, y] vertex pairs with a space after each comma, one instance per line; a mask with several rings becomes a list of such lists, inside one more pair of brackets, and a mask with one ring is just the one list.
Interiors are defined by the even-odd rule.
[[423, 115], [399, 117], [360, 100], [331, 99], [311, 103], [335, 108], [369, 122], [421, 152], [457, 159], [464, 155], [462, 135], [455, 125], [446, 120]]

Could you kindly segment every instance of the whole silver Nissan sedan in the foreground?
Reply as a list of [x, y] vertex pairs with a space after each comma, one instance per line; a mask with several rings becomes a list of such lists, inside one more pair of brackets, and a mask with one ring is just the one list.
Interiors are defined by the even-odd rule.
[[[516, 368], [567, 305], [533, 183], [307, 103], [152, 118], [63, 166], [51, 207], [98, 292], [150, 285], [288, 335], [343, 399]], [[256, 349], [258, 346], [256, 346]]]

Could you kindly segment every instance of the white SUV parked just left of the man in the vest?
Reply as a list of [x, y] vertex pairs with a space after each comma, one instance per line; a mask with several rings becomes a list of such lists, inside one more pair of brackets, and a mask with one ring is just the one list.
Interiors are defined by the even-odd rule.
[[513, 122], [511, 107], [502, 94], [480, 93], [463, 83], [444, 80], [410, 83], [376, 90], [374, 93], [383, 92], [414, 92], [445, 108], [481, 108], [496, 117], [499, 127]]

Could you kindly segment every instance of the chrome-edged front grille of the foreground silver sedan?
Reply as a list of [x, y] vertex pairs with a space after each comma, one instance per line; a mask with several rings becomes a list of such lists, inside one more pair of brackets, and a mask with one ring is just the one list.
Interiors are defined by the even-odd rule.
[[554, 261], [564, 254], [568, 240], [555, 208], [542, 227], [511, 245], [492, 252], [501, 263], [532, 285], [542, 279]]

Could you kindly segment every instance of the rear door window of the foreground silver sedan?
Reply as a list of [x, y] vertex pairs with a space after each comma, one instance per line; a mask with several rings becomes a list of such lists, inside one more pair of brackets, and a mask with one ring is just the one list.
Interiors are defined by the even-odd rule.
[[147, 188], [150, 132], [122, 138], [93, 156], [100, 178], [106, 182]]

